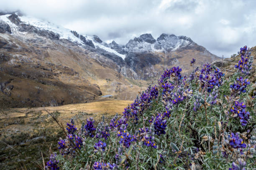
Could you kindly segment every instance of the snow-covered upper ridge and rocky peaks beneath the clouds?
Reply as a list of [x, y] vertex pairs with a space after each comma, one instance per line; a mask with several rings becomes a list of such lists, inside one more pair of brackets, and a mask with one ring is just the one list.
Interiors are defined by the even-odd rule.
[[[10, 30], [12, 33], [17, 33], [18, 31], [29, 32], [31, 29], [38, 32], [52, 32], [55, 34], [56, 39], [67, 39], [81, 46], [88, 45], [92, 48], [100, 48], [118, 55], [122, 59], [125, 59], [129, 52], [170, 52], [195, 43], [189, 37], [163, 33], [156, 40], [151, 34], [142, 34], [139, 37], [134, 37], [133, 40], [129, 40], [126, 45], [119, 45], [115, 41], [107, 44], [102, 42], [97, 35], [81, 35], [76, 31], [47, 21], [27, 16], [18, 16], [17, 13], [1, 15], [0, 22], [2, 23], [2, 30], [7, 30], [9, 33]], [[6, 28], [7, 25], [10, 26], [9, 30]]]

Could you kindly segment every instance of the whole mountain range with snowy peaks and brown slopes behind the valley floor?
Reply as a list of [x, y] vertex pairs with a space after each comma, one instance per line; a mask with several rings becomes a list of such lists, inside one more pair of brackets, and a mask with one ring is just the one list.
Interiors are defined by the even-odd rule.
[[172, 66], [184, 73], [220, 58], [189, 37], [151, 34], [103, 42], [44, 20], [0, 13], [0, 105], [40, 107], [131, 100]]

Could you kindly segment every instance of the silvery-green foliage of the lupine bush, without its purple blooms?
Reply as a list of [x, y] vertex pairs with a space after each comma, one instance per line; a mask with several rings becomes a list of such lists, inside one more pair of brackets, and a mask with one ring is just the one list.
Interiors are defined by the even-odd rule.
[[[211, 69], [218, 68], [211, 67]], [[255, 85], [252, 83], [247, 85], [246, 92], [232, 91], [230, 85], [237, 78], [241, 76], [246, 78], [246, 75], [238, 71], [226, 80], [218, 80], [220, 85], [215, 85], [216, 87], [209, 91], [207, 80], [200, 80], [200, 71], [195, 71], [197, 76], [192, 80], [179, 79], [175, 74], [175, 72], [171, 74], [173, 80], [168, 81], [174, 86], [172, 94], [169, 98], [167, 97], [168, 102], [163, 90], [165, 82], [170, 77], [165, 77], [156, 85], [158, 95], [151, 95], [153, 88], [149, 87], [125, 109], [120, 119], [126, 120], [127, 124], [118, 124], [118, 120], [111, 120], [114, 125], [109, 130], [107, 138], [97, 138], [102, 131], [105, 133], [106, 130], [103, 128], [100, 131], [99, 125], [93, 138], [87, 135], [86, 131], [85, 133], [77, 132], [76, 134], [83, 139], [82, 147], [79, 150], [75, 149], [74, 154], [57, 156], [61, 169], [92, 169], [93, 164], [98, 162], [102, 165], [106, 163], [105, 169], [111, 169], [107, 165], [110, 163], [114, 165], [112, 169], [119, 170], [227, 170], [232, 168], [232, 163], [240, 165], [240, 159], [246, 162], [246, 169], [256, 168], [254, 149], [256, 99], [249, 95], [252, 94]], [[178, 93], [180, 89], [184, 100], [175, 104], [174, 93]], [[189, 92], [189, 90], [192, 91]], [[147, 95], [149, 97], [145, 97]], [[240, 116], [230, 111], [236, 101], [243, 102], [246, 105], [244, 108], [246, 112], [250, 112], [246, 125], [241, 124]], [[199, 106], [197, 109], [196, 104]], [[170, 112], [170, 116], [164, 116], [167, 111]], [[156, 135], [156, 120], [160, 121], [161, 116], [163, 122], [160, 124], [166, 123], [166, 127], [160, 127], [164, 129], [164, 133]], [[104, 121], [101, 125], [109, 128], [109, 124]], [[123, 127], [125, 130], [122, 129]], [[141, 132], [141, 129], [145, 132]], [[118, 133], [121, 135], [118, 136]], [[238, 133], [237, 139], [232, 133]], [[121, 142], [121, 138], [126, 138], [124, 134], [135, 135], [136, 140], [131, 141], [127, 146], [124, 140]], [[232, 142], [238, 139], [246, 143], [245, 148], [236, 148], [233, 145]], [[68, 137], [66, 140], [69, 140]], [[94, 145], [99, 140], [106, 143], [106, 148], [95, 152]], [[146, 145], [147, 140], [152, 142], [152, 146]], [[156, 148], [153, 143], [156, 144]], [[242, 146], [241, 142], [239, 145]]]

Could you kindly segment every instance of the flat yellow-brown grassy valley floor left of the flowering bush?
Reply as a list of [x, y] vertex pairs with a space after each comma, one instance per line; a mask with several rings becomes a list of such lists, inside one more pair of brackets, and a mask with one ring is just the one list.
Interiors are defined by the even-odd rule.
[[107, 121], [132, 101], [108, 100], [82, 104], [62, 105], [58, 107], [9, 108], [0, 110], [0, 167], [6, 170], [40, 169], [41, 151], [44, 158], [49, 157], [47, 150], [57, 150], [59, 137], [63, 132], [46, 112], [51, 112], [63, 123], [64, 127], [71, 118], [78, 123], [94, 117], [97, 123], [102, 115]]

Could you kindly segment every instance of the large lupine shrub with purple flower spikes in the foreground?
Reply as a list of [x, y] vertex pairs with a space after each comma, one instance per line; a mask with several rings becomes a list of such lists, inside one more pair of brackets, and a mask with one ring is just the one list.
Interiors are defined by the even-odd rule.
[[[141, 92], [122, 117], [92, 118], [78, 130], [67, 124], [59, 155], [47, 168], [64, 170], [245, 170], [255, 164], [255, 98], [246, 78], [252, 63], [247, 47], [238, 71], [224, 78], [205, 63], [189, 79], [182, 69], [166, 70], [158, 84]], [[249, 58], [249, 60], [248, 60]], [[191, 61], [191, 66], [195, 59]], [[194, 67], [193, 67], [194, 68]], [[255, 93], [253, 93], [255, 94]], [[250, 101], [248, 101], [248, 99]], [[249, 105], [250, 104], [250, 105]], [[63, 128], [64, 129], [64, 128]], [[52, 163], [56, 165], [52, 165]]]

